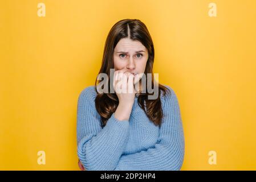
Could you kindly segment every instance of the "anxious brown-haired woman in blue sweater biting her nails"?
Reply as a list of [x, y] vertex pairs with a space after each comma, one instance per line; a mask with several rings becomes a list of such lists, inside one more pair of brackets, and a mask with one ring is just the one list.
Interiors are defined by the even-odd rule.
[[[99, 83], [85, 88], [78, 99], [77, 143], [82, 170], [179, 170], [184, 159], [184, 133], [176, 94], [158, 84], [158, 96], [142, 84], [152, 73], [154, 47], [143, 22], [124, 19], [109, 31], [99, 73], [107, 74], [108, 89]], [[111, 82], [111, 69], [115, 69]], [[148, 80], [148, 77], [146, 78]], [[101, 82], [102, 81], [102, 82]], [[120, 86], [127, 84], [128, 86]], [[132, 84], [132, 92], [128, 90]], [[152, 79], [151, 84], [156, 84]], [[131, 88], [131, 87], [129, 87]], [[106, 90], [105, 90], [106, 91]]]

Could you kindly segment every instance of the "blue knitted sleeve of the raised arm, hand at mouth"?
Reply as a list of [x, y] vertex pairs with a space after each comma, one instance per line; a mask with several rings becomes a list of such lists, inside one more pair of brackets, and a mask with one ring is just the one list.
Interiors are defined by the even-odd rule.
[[101, 128], [95, 108], [96, 91], [84, 89], [78, 98], [77, 143], [78, 158], [86, 170], [113, 170], [124, 151], [129, 121], [119, 121], [115, 113]]

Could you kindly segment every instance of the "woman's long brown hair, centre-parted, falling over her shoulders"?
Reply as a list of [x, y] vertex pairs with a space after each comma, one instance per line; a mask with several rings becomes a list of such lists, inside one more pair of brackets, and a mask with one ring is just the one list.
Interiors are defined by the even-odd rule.
[[[152, 74], [152, 84], [154, 85], [153, 78], [153, 62], [155, 57], [155, 50], [152, 42], [151, 35], [149, 34], [148, 28], [143, 22], [138, 19], [123, 19], [115, 23], [111, 30], [108, 33], [107, 40], [105, 42], [103, 60], [101, 64], [100, 73], [105, 73], [110, 78], [110, 69], [114, 68], [113, 65], [113, 51], [116, 47], [116, 44], [122, 38], [130, 38], [132, 40], [138, 40], [141, 42], [148, 50], [148, 61], [145, 67], [145, 75], [147, 73]], [[147, 78], [146, 78], [147, 79]], [[110, 82], [110, 79], [108, 79]], [[100, 80], [95, 81], [95, 89]], [[108, 84], [110, 85], [110, 84]], [[158, 84], [159, 96], [156, 100], [148, 100], [149, 93], [140, 93], [138, 96], [138, 104], [144, 110], [147, 117], [157, 126], [161, 126], [161, 120], [163, 117], [162, 106], [160, 95], [161, 91], [165, 95], [166, 88], [165, 86]], [[108, 88], [109, 89], [109, 88]], [[97, 92], [97, 90], [96, 90]], [[145, 104], [144, 104], [145, 103]], [[111, 115], [116, 111], [116, 108], [119, 104], [118, 97], [115, 93], [99, 93], [95, 98], [95, 106], [97, 112], [101, 116], [101, 126], [104, 127]]]

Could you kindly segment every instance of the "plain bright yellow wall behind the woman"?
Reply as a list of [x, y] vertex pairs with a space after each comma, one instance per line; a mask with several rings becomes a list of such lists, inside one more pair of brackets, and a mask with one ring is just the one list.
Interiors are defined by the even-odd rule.
[[[211, 2], [217, 16], [208, 14]], [[254, 0], [1, 0], [0, 169], [79, 169], [79, 93], [94, 84], [113, 24], [136, 18], [155, 43], [155, 73], [180, 102], [182, 170], [255, 170], [255, 7]], [[217, 164], [208, 163], [209, 151]]]

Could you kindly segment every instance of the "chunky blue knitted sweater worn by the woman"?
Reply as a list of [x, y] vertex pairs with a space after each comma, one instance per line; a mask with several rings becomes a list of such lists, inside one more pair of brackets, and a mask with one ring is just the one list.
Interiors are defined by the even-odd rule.
[[161, 93], [164, 118], [161, 127], [150, 121], [137, 103], [129, 121], [119, 121], [115, 113], [101, 128], [95, 109], [95, 86], [83, 89], [78, 98], [78, 157], [86, 170], [166, 171], [180, 170], [184, 159], [184, 133], [176, 94]]

